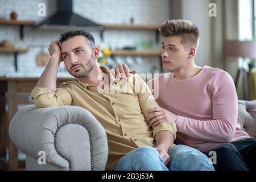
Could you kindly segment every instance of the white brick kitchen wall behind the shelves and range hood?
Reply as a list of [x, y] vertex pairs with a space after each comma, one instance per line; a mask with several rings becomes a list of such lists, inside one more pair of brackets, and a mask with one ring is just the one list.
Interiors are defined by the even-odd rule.
[[[38, 16], [38, 4], [46, 4], [48, 18], [56, 11], [56, 1], [49, 0], [1, 0], [0, 18], [9, 18], [12, 10], [18, 13], [18, 19], [30, 19], [40, 22], [44, 17]], [[170, 18], [169, 0], [74, 0], [73, 11], [88, 19], [98, 23], [129, 23], [130, 18], [134, 19], [135, 24], [160, 24]], [[79, 28], [84, 29], [84, 28]], [[10, 40], [18, 47], [29, 48], [27, 53], [18, 55], [19, 71], [14, 70], [14, 56], [12, 54], [0, 54], [0, 76], [40, 76], [44, 68], [36, 66], [36, 54], [47, 51], [48, 44], [52, 40], [59, 38], [63, 31], [52, 30], [31, 30], [31, 27], [24, 28], [24, 38], [19, 38], [18, 26], [0, 25], [0, 41]], [[96, 44], [100, 44], [100, 34], [97, 30], [89, 30], [94, 35]], [[136, 46], [139, 40], [152, 39], [155, 42], [154, 31], [135, 31], [135, 30], [106, 30], [104, 32], [103, 44], [112, 48], [122, 48], [124, 46]], [[154, 45], [160, 47], [159, 45]], [[127, 63], [131, 69], [137, 69], [139, 73], [150, 72], [152, 66], [159, 67], [159, 57], [114, 57], [110, 61], [113, 65], [117, 63]], [[62, 69], [63, 70], [63, 69]], [[65, 73], [60, 73], [65, 76]], [[68, 75], [68, 74], [66, 74]]]

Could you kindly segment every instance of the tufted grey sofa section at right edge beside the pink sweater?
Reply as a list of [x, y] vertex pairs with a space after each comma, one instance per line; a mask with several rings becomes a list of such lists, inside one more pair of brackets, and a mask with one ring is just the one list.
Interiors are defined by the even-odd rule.
[[238, 121], [242, 131], [256, 138], [256, 100], [238, 101]]

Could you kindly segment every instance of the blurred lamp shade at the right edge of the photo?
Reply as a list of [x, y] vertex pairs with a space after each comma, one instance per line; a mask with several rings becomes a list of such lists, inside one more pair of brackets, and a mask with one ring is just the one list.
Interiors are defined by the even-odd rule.
[[256, 58], [256, 41], [228, 40], [225, 45], [226, 57]]

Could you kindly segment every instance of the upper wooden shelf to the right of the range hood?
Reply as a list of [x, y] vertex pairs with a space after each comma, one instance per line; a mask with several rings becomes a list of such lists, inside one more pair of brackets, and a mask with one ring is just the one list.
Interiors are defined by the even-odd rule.
[[134, 29], [134, 30], [158, 30], [159, 25], [154, 24], [104, 24], [109, 29]]

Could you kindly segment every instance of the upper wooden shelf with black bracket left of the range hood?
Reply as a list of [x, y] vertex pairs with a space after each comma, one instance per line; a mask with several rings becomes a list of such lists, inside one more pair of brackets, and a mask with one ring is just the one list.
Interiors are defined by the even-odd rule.
[[35, 22], [31, 20], [9, 20], [9, 19], [0, 19], [0, 24], [19, 26], [19, 36], [20, 39], [23, 39], [23, 29], [24, 26], [34, 26]]

